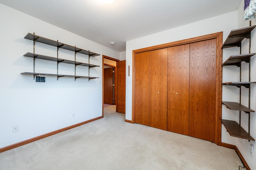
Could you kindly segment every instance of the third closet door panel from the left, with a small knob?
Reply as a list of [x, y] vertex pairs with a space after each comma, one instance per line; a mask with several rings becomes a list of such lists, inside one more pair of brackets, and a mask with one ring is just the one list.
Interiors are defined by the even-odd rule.
[[189, 135], [190, 45], [168, 48], [167, 130]]

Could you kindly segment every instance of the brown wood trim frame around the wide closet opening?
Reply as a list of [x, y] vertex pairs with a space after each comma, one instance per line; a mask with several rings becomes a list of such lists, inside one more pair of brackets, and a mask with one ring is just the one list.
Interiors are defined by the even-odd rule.
[[222, 38], [223, 32], [218, 33], [212, 33], [208, 35], [203, 35], [200, 37], [194, 37], [190, 39], [184, 39], [181, 41], [175, 41], [171, 43], [156, 45], [152, 47], [146, 47], [143, 49], [137, 49], [132, 51], [132, 121], [131, 123], [134, 123], [134, 98], [135, 98], [135, 55], [136, 53], [141, 53], [145, 51], [151, 51], [156, 49], [162, 49], [162, 48], [168, 48], [173, 47], [177, 45], [184, 45], [184, 44], [190, 44], [195, 43], [198, 41], [205, 41], [209, 39], [215, 39], [217, 41], [217, 50], [216, 50], [216, 134], [215, 134], [215, 143], [217, 145], [221, 145], [221, 117], [222, 117]]

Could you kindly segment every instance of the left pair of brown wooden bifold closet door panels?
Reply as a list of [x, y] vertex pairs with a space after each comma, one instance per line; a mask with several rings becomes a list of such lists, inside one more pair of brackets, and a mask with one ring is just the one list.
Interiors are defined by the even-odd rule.
[[167, 128], [167, 49], [136, 54], [135, 122]]

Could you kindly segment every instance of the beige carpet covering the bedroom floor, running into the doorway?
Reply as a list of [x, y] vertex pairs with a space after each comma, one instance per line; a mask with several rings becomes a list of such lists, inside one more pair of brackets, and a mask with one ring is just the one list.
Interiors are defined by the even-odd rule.
[[124, 119], [115, 106], [104, 107], [102, 119], [0, 153], [0, 170], [238, 170], [242, 166], [232, 149]]

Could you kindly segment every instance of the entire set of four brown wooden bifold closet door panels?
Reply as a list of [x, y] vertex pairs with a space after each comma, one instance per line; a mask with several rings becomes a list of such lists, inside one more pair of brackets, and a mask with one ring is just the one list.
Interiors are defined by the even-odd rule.
[[135, 54], [134, 121], [216, 141], [217, 39]]

